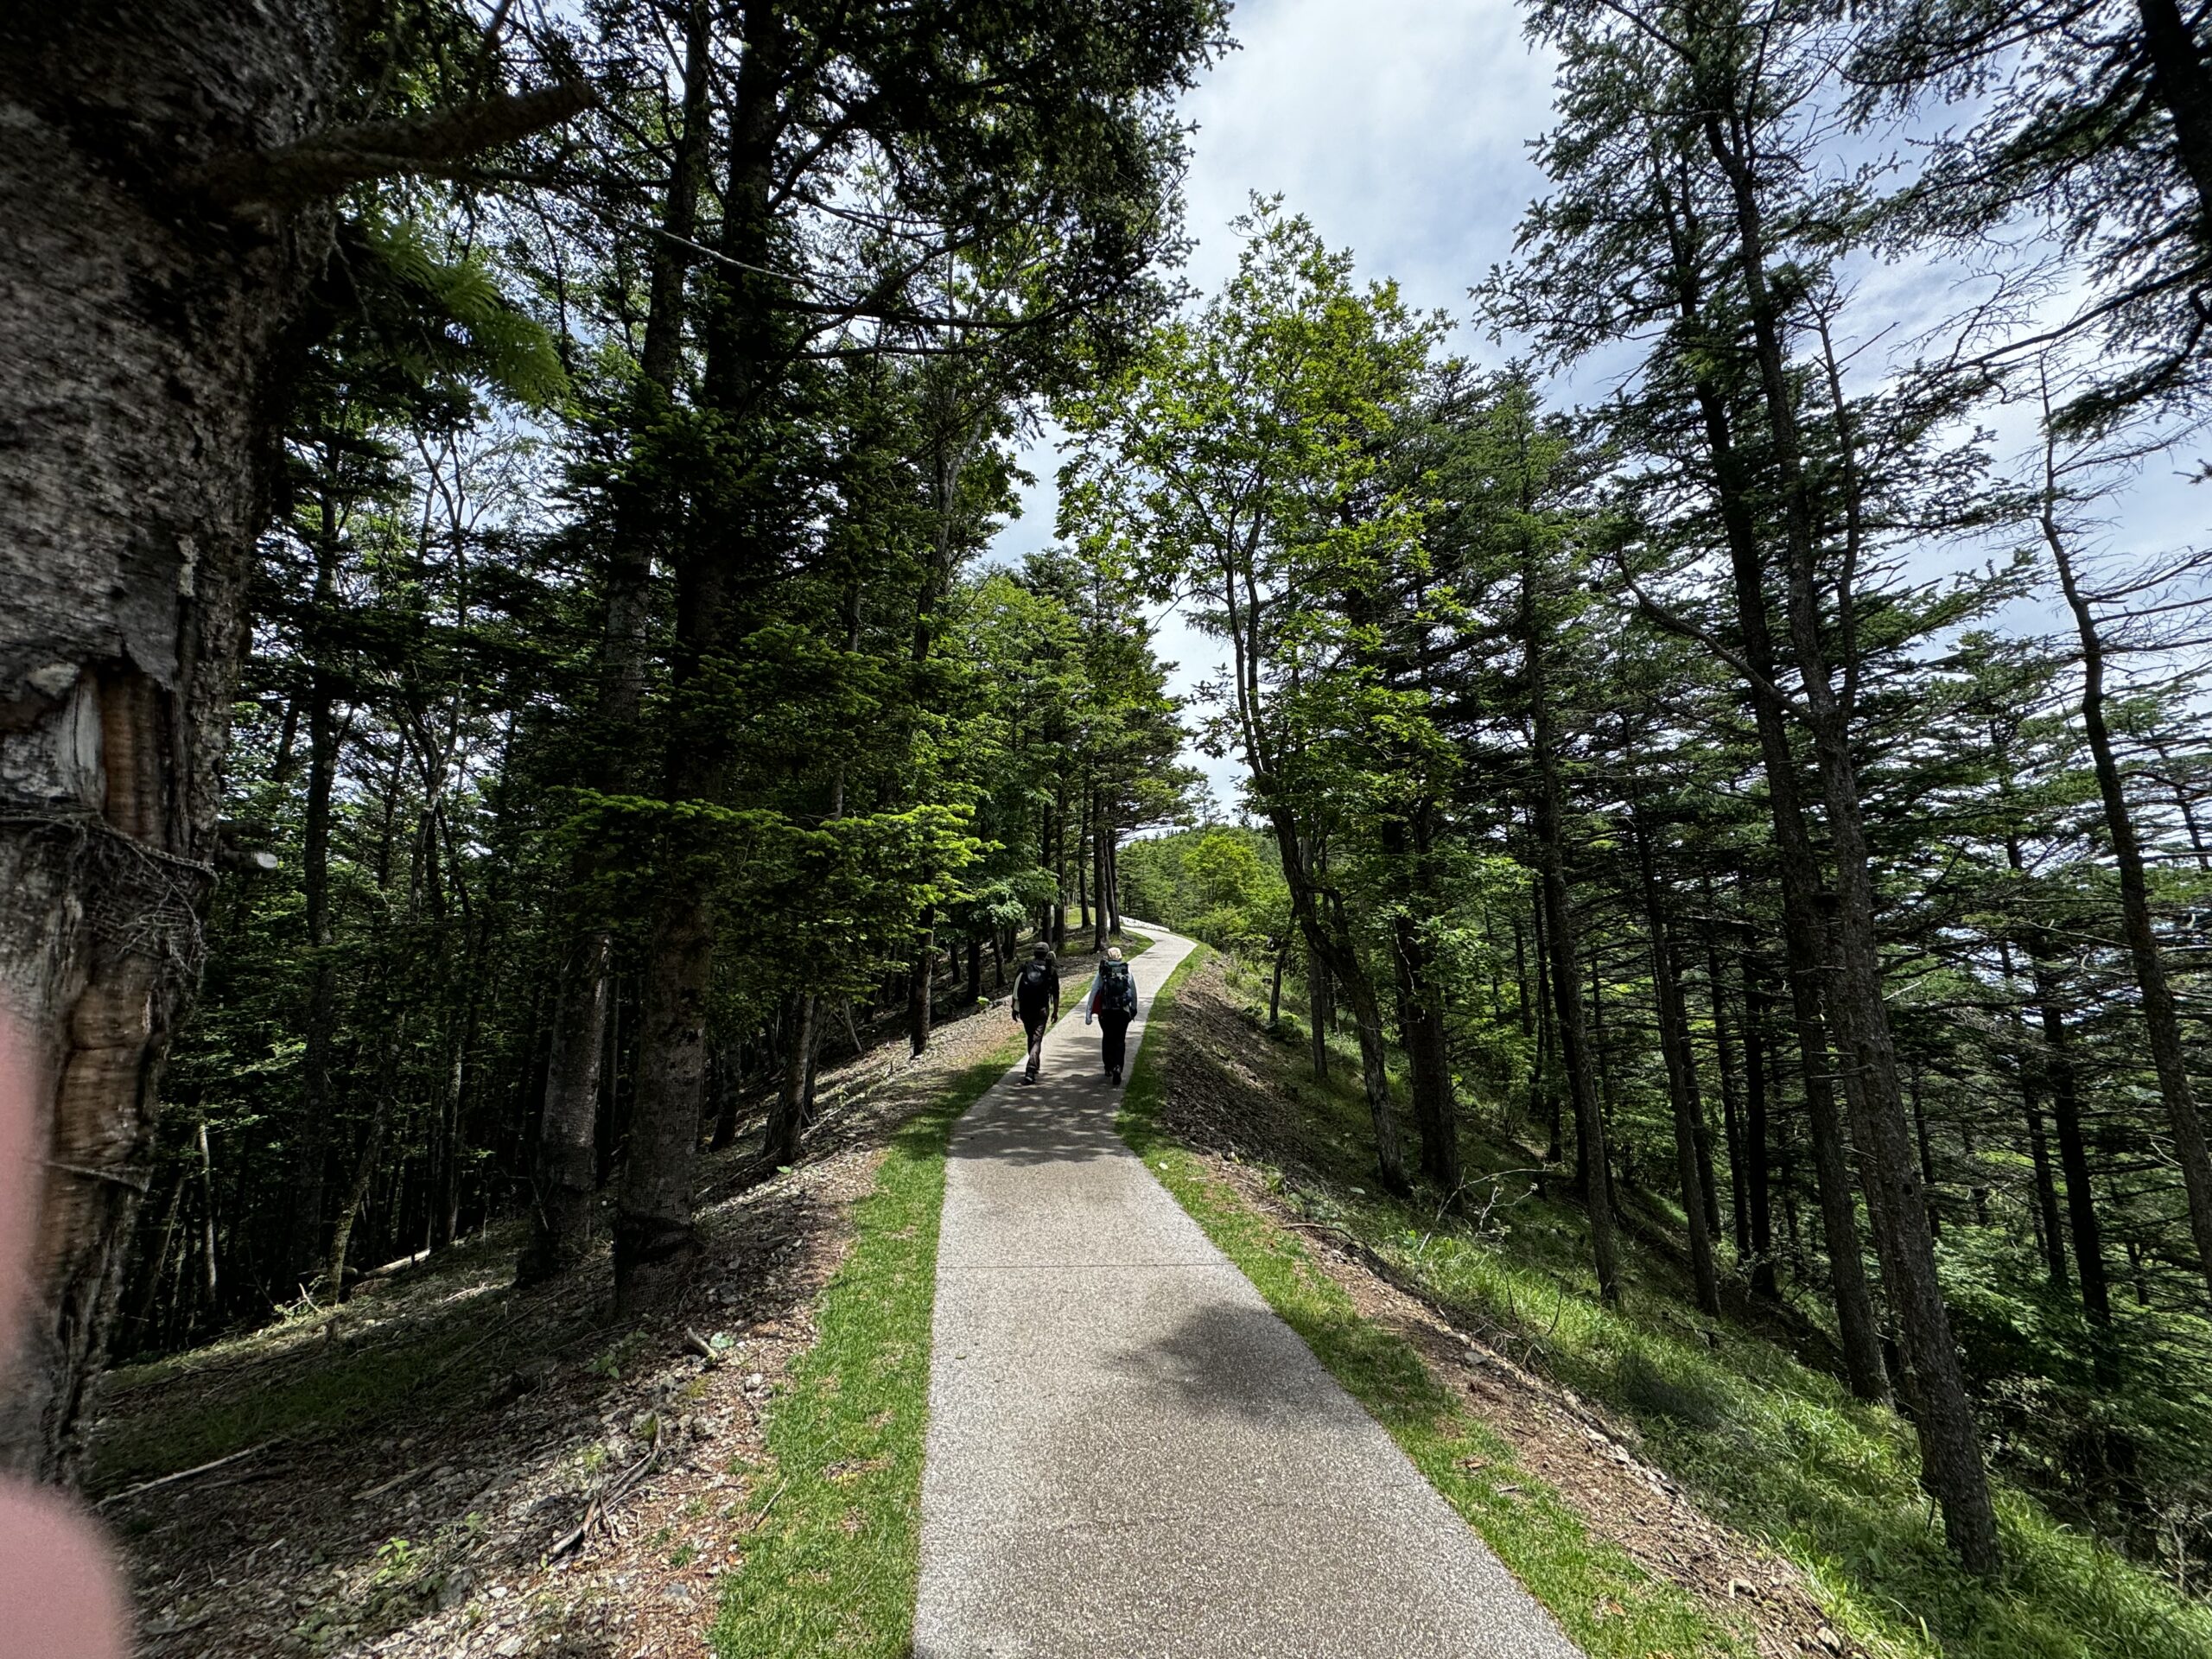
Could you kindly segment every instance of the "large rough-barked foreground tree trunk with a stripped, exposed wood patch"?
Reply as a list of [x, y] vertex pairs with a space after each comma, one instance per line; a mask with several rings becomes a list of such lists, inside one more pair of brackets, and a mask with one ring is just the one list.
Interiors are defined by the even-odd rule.
[[327, 243], [321, 212], [234, 223], [179, 175], [316, 126], [338, 7], [7, 13], [0, 1018], [42, 1057], [44, 1190], [0, 1464], [71, 1480], [199, 971], [281, 347]]

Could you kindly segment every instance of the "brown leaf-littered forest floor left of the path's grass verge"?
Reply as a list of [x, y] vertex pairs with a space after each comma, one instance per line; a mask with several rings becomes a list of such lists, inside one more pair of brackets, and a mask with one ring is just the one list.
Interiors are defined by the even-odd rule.
[[[1093, 960], [1062, 953], [1071, 998]], [[825, 1064], [805, 1159], [745, 1186], [754, 1115], [703, 1159], [706, 1259], [650, 1318], [613, 1318], [604, 1256], [518, 1290], [509, 1221], [341, 1310], [115, 1371], [93, 1493], [139, 1655], [712, 1652], [717, 1582], [774, 1502], [754, 1491], [770, 1407], [852, 1208], [898, 1126], [1009, 1037], [995, 998], [920, 1060], [889, 1033]]]

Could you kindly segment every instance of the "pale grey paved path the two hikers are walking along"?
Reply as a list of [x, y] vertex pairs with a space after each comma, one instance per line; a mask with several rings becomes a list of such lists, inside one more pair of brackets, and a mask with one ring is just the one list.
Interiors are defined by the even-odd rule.
[[[1190, 940], [1144, 931], [1148, 1013]], [[916, 1659], [1577, 1659], [1121, 1144], [1119, 1093], [1073, 1011], [953, 1133]]]

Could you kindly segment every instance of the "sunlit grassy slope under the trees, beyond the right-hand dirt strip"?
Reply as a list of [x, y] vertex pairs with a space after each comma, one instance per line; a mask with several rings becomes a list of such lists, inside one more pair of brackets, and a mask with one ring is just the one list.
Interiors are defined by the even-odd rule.
[[[1624, 1307], [1601, 1307], [1582, 1212], [1526, 1194], [1526, 1170], [1500, 1181], [1504, 1225], [1486, 1237], [1438, 1228], [1427, 1208], [1363, 1192], [1371, 1159], [1356, 1086], [1316, 1084], [1292, 1057], [1294, 1044], [1270, 1053], [1259, 1031], [1252, 1042], [1254, 1066], [1298, 1102], [1307, 1128], [1301, 1152], [1321, 1177], [1285, 1188], [1294, 1208], [1349, 1230], [1462, 1325], [1517, 1336], [1542, 1369], [1635, 1422], [1646, 1458], [1694, 1491], [1708, 1513], [1798, 1562], [1838, 1630], [1867, 1650], [1951, 1659], [2212, 1655], [2212, 1608], [2002, 1486], [2008, 1571], [1993, 1586], [1969, 1579], [1942, 1548], [1911, 1433], [1893, 1413], [1851, 1400], [1832, 1376], [1763, 1336], [1697, 1316], [1672, 1263], [1648, 1250], [1628, 1252]], [[1150, 1057], [1157, 1066], [1159, 1053]], [[1473, 1135], [1467, 1157], [1471, 1170], [1526, 1164], [1522, 1152]], [[1469, 1520], [1546, 1595], [1480, 1515]]]

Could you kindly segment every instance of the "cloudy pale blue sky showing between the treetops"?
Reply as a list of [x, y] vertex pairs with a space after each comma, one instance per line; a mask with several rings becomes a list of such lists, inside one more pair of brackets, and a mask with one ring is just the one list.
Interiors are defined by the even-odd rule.
[[[1531, 142], [1551, 124], [1553, 64], [1522, 38], [1513, 0], [1239, 0], [1239, 49], [1183, 100], [1194, 124], [1186, 181], [1188, 232], [1197, 239], [1183, 276], [1203, 294], [1237, 265], [1230, 221], [1252, 192], [1281, 192], [1338, 248], [1352, 248], [1363, 276], [1394, 276], [1407, 301], [1462, 321], [1451, 349], [1478, 361], [1502, 352], [1473, 325], [1467, 290], [1513, 250], [1522, 210], [1544, 195]], [[1955, 113], [1953, 113], [1955, 115]], [[1865, 268], [1860, 316], [1876, 325], [1922, 305], [1944, 310], [1949, 274], [1924, 265]], [[1902, 332], [1900, 332], [1902, 336]], [[1601, 374], [1555, 396], [1604, 396]], [[1997, 416], [2000, 434], [2022, 425]], [[2028, 436], [2000, 436], [2011, 451]], [[1020, 560], [1053, 540], [1053, 471], [1046, 436], [1026, 456], [1037, 482], [995, 538], [995, 560]], [[2203, 495], [2181, 462], [2148, 469], [2126, 504], [2115, 540], [2174, 546], [2199, 540]], [[2124, 549], [2115, 549], [2124, 551]], [[1986, 553], [1984, 553], [1986, 555]], [[1962, 549], [1931, 551], [1947, 568], [1969, 562]], [[1918, 562], [1916, 562], [1918, 564]], [[1933, 577], [1940, 571], [1916, 568]], [[2055, 624], [2046, 604], [2028, 604], [2013, 626]], [[1219, 670], [1221, 646], [1177, 615], [1159, 617], [1159, 655], [1177, 664], [1170, 688], [1188, 695]], [[1225, 816], [1237, 812], [1241, 768], [1194, 750]]]

